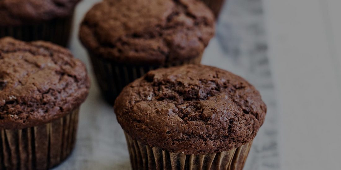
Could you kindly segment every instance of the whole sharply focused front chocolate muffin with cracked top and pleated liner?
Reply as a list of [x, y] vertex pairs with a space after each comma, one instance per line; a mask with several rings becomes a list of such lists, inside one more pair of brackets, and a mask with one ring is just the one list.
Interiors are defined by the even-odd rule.
[[135, 170], [241, 170], [266, 115], [251, 84], [204, 65], [150, 71], [114, 108]]

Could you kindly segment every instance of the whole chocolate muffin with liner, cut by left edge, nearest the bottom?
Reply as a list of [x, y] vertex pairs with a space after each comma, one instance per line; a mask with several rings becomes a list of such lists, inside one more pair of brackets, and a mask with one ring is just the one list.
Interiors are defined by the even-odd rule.
[[46, 170], [66, 159], [89, 86], [69, 50], [0, 39], [0, 169]]

